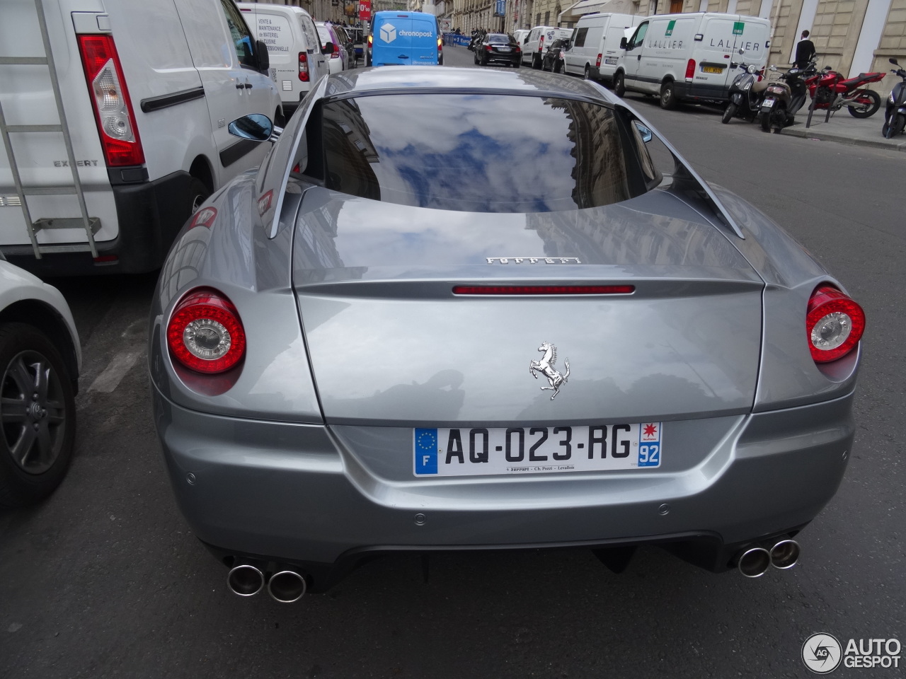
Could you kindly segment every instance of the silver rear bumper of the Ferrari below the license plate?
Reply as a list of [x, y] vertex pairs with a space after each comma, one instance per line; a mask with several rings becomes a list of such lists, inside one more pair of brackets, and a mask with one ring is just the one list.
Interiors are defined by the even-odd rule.
[[400, 550], [667, 542], [727, 569], [744, 546], [795, 532], [833, 497], [853, 445], [852, 401], [724, 418], [726, 435], [680, 471], [535, 475], [476, 492], [475, 477], [389, 480], [330, 426], [206, 415], [154, 390], [170, 481], [198, 538], [224, 556], [295, 564], [315, 574], [315, 589], [363, 556]]

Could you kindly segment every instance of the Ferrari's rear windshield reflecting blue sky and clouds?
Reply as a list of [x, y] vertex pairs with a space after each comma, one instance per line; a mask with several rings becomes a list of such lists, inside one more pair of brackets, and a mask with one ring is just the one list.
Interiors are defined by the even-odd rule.
[[593, 103], [381, 95], [328, 102], [321, 125], [321, 135], [309, 135], [323, 140], [323, 168], [314, 172], [327, 188], [352, 196], [440, 210], [526, 213], [631, 197], [618, 120]]

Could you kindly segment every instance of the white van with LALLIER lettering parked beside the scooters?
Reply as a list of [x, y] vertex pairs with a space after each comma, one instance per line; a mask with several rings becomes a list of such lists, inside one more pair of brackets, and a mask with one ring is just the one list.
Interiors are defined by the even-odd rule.
[[730, 62], [763, 66], [770, 47], [767, 19], [739, 14], [658, 14], [649, 16], [617, 60], [613, 91], [660, 96], [672, 109], [681, 100], [726, 101], [733, 81]]

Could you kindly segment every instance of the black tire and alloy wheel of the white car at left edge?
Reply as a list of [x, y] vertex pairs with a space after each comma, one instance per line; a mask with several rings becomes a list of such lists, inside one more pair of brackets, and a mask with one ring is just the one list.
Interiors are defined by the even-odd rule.
[[0, 389], [0, 507], [22, 507], [63, 481], [75, 442], [75, 390], [53, 342], [14, 322], [0, 325]]

